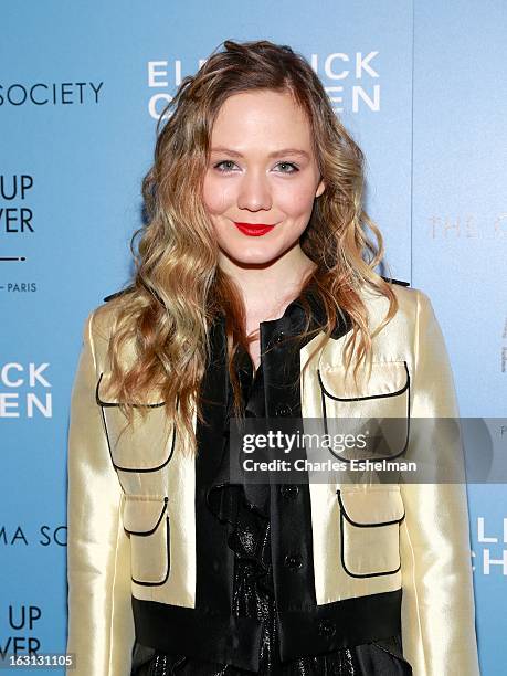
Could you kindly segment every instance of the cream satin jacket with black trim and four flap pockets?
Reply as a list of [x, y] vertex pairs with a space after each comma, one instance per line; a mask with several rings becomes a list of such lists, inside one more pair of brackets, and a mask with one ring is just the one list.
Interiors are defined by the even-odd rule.
[[[392, 288], [399, 311], [373, 338], [371, 378], [359, 388], [350, 374], [345, 377], [347, 321], [300, 376], [293, 400], [279, 381], [281, 365], [288, 359], [281, 336], [297, 332], [298, 303], [283, 318], [262, 323], [262, 350], [274, 346], [265, 365], [273, 385], [268, 415], [457, 416], [431, 302], [421, 291]], [[363, 299], [374, 328], [388, 302], [370, 291]], [[184, 440], [176, 437], [156, 394], [147, 402], [146, 421], [139, 418], [134, 430], [120, 434], [125, 419], [104, 389], [115, 308], [112, 297], [88, 316], [72, 393], [67, 652], [76, 655], [76, 668], [68, 673], [128, 676], [136, 636], [168, 652], [208, 655], [220, 638], [221, 658], [234, 663], [237, 644], [254, 656], [260, 627], [230, 613], [232, 559], [221, 558], [223, 536], [201, 509], [204, 487], [216, 485], [223, 469], [213, 454], [222, 409], [210, 414], [216, 430], [198, 434], [199, 463], [183, 453]], [[306, 362], [318, 338], [300, 348], [294, 369]], [[218, 350], [223, 346], [220, 326], [214, 342]], [[205, 388], [223, 399], [223, 365], [210, 367]], [[435, 440], [423, 452], [458, 462], [453, 441]], [[282, 486], [273, 500], [282, 658], [401, 630], [414, 676], [479, 674], [463, 484], [310, 483], [295, 492]]]

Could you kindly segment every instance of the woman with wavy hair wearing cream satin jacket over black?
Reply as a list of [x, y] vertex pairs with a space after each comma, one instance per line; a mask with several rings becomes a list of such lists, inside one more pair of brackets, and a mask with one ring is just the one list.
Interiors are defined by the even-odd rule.
[[133, 284], [84, 331], [73, 673], [476, 675], [463, 486], [230, 476], [231, 416], [456, 403], [429, 298], [374, 272], [362, 155], [318, 77], [288, 46], [224, 47], [169, 105]]

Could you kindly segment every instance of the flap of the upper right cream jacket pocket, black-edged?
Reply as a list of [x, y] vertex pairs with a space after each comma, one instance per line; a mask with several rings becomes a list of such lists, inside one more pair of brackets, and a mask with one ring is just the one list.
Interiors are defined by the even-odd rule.
[[346, 374], [345, 366], [328, 366], [319, 369], [318, 378], [324, 393], [337, 401], [397, 397], [406, 391], [410, 381], [406, 361], [374, 361], [369, 379], [359, 370], [357, 384], [352, 367]]

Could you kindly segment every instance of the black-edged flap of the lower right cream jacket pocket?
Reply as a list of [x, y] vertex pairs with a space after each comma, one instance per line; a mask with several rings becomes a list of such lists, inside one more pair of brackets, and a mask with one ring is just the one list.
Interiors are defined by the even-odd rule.
[[398, 487], [337, 490], [344, 517], [353, 526], [387, 526], [403, 520], [405, 509]]

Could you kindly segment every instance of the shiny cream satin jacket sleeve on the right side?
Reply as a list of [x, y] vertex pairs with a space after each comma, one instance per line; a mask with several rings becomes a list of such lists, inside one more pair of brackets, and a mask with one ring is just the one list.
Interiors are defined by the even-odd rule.
[[[411, 460], [426, 472], [436, 461], [463, 469], [460, 436], [447, 435], [437, 418], [458, 409], [440, 325], [429, 297], [418, 293]], [[426, 475], [424, 475], [426, 476]], [[403, 653], [414, 676], [479, 674], [466, 483], [401, 484]]]

